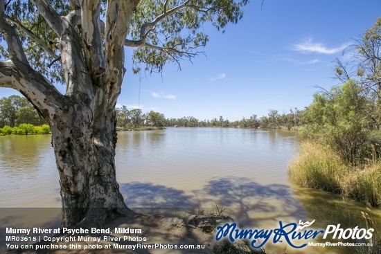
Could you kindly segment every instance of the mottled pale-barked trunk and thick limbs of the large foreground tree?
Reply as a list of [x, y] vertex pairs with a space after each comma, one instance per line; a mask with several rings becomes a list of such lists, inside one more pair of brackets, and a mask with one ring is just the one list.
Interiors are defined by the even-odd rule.
[[82, 41], [71, 24], [78, 22], [76, 11], [69, 19], [60, 17], [45, 0], [33, 3], [59, 37], [67, 93], [60, 94], [30, 67], [15, 29], [5, 19], [3, 1], [0, 29], [10, 60], [0, 62], [0, 85], [23, 93], [51, 127], [60, 174], [62, 226], [93, 218], [92, 222], [102, 224], [129, 211], [116, 182], [115, 105], [125, 73], [123, 44], [139, 1], [108, 2], [105, 51], [98, 24], [100, 1], [81, 3]]

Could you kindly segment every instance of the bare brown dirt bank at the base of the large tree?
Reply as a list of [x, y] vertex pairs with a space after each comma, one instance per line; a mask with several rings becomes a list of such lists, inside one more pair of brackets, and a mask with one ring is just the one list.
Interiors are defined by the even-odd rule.
[[83, 222], [71, 229], [83, 231], [89, 228], [89, 233], [56, 234], [28, 249], [18, 248], [5, 253], [264, 254], [260, 250], [251, 250], [240, 240], [234, 243], [215, 241], [215, 234], [208, 229], [211, 227], [213, 230], [216, 224], [230, 220], [229, 217], [219, 215], [190, 215], [181, 219], [143, 215], [129, 210], [108, 224], [96, 225], [98, 232], [91, 232], [95, 231], [90, 230], [94, 224]]

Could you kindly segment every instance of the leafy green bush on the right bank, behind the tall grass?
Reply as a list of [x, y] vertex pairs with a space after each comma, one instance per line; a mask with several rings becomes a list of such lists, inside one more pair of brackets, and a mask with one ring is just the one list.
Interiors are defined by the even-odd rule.
[[371, 129], [370, 104], [353, 80], [330, 92], [316, 94], [303, 114], [307, 123], [304, 136], [319, 137], [344, 161], [360, 164], [366, 156], [364, 148]]

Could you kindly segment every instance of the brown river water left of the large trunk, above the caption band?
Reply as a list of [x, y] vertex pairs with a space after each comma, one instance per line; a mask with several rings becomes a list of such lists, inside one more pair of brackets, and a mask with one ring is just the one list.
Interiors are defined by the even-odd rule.
[[0, 137], [0, 207], [59, 207], [51, 136]]

